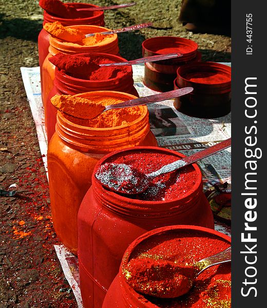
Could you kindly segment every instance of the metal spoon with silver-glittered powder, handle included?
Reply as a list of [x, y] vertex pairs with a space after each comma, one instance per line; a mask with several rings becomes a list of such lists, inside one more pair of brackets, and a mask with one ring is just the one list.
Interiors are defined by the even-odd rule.
[[[186, 88], [182, 88], [182, 90], [183, 89]], [[141, 194], [149, 187], [154, 178], [193, 164], [230, 146], [231, 138], [219, 142], [204, 150], [198, 151], [193, 155], [167, 164], [157, 171], [151, 172], [150, 174], [144, 174], [126, 164], [106, 163], [100, 166], [95, 174], [95, 177], [104, 187], [113, 191], [121, 192], [122, 194], [127, 195]]]

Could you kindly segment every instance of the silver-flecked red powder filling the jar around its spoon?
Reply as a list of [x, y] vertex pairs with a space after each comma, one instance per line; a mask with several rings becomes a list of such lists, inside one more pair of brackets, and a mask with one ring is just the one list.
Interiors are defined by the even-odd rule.
[[[128, 180], [127, 169], [134, 169], [136, 174], [139, 172], [141, 174], [149, 174], [154, 172], [166, 164], [173, 163], [179, 158], [177, 156], [165, 153], [151, 152], [147, 150], [123, 153], [123, 156], [114, 156], [105, 161], [105, 164], [100, 166], [96, 172], [96, 178], [106, 184], [110, 182], [112, 187], [112, 182], [114, 181], [113, 176], [109, 177], [110, 172], [108, 168], [112, 167], [112, 164], [124, 165], [124, 172], [118, 175], [118, 185]], [[106, 169], [107, 168], [107, 169]], [[124, 174], [126, 178], [123, 178]], [[125, 195], [127, 198], [146, 200], [146, 201], [168, 201], [177, 198], [182, 198], [196, 183], [196, 170], [193, 166], [187, 166], [180, 170], [175, 170], [158, 177], [155, 177], [150, 183], [148, 188], [137, 195]], [[135, 179], [132, 179], [134, 182]], [[138, 181], [137, 181], [138, 183]]]

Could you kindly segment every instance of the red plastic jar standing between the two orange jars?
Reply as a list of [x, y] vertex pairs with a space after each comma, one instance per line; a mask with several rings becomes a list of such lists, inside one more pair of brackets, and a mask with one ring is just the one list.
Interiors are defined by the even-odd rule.
[[[104, 58], [109, 59], [114, 62], [127, 61], [123, 57], [107, 54], [107, 53], [83, 53], [77, 54], [81, 56], [89, 56], [91, 59]], [[120, 68], [120, 67], [118, 67]], [[55, 68], [55, 79], [53, 82], [53, 88], [48, 95], [46, 105], [44, 106], [45, 111], [45, 127], [47, 132], [47, 140], [50, 141], [53, 133], [55, 131], [56, 123], [56, 108], [51, 104], [50, 99], [55, 94], [65, 94], [74, 95], [78, 93], [90, 92], [90, 91], [118, 91], [129, 93], [139, 97], [136, 88], [133, 86], [132, 79], [132, 68], [131, 66], [124, 66], [127, 73], [121, 77], [109, 79], [109, 80], [84, 80], [79, 78], [74, 78], [68, 74], [62, 73], [58, 68]]]

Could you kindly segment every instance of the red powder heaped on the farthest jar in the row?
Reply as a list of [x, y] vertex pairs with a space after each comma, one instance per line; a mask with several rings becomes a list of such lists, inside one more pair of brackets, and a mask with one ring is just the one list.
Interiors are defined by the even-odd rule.
[[63, 3], [60, 0], [40, 0], [39, 5], [50, 14], [60, 16], [62, 18], [86, 18], [93, 16], [92, 11], [77, 11], [70, 3]]

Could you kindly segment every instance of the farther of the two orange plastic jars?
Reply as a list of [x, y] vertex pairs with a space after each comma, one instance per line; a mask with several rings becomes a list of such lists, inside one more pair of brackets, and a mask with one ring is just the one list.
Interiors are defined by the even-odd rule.
[[[88, 25], [78, 25], [78, 26], [69, 26], [68, 28], [79, 29], [84, 34], [108, 31], [110, 29], [99, 27], [99, 26], [88, 26]], [[92, 46], [78, 45], [68, 42], [63, 42], [58, 38], [50, 36], [48, 48], [49, 53], [46, 56], [43, 68], [41, 72], [41, 90], [42, 90], [42, 101], [45, 106], [45, 102], [48, 98], [49, 92], [53, 87], [54, 80], [54, 70], [55, 66], [48, 60], [49, 57], [61, 52], [65, 54], [77, 54], [77, 53], [86, 53], [86, 52], [103, 52], [109, 54], [119, 54], [118, 46], [118, 36], [117, 34], [112, 34], [112, 40], [105, 42], [100, 42], [99, 44]]]

